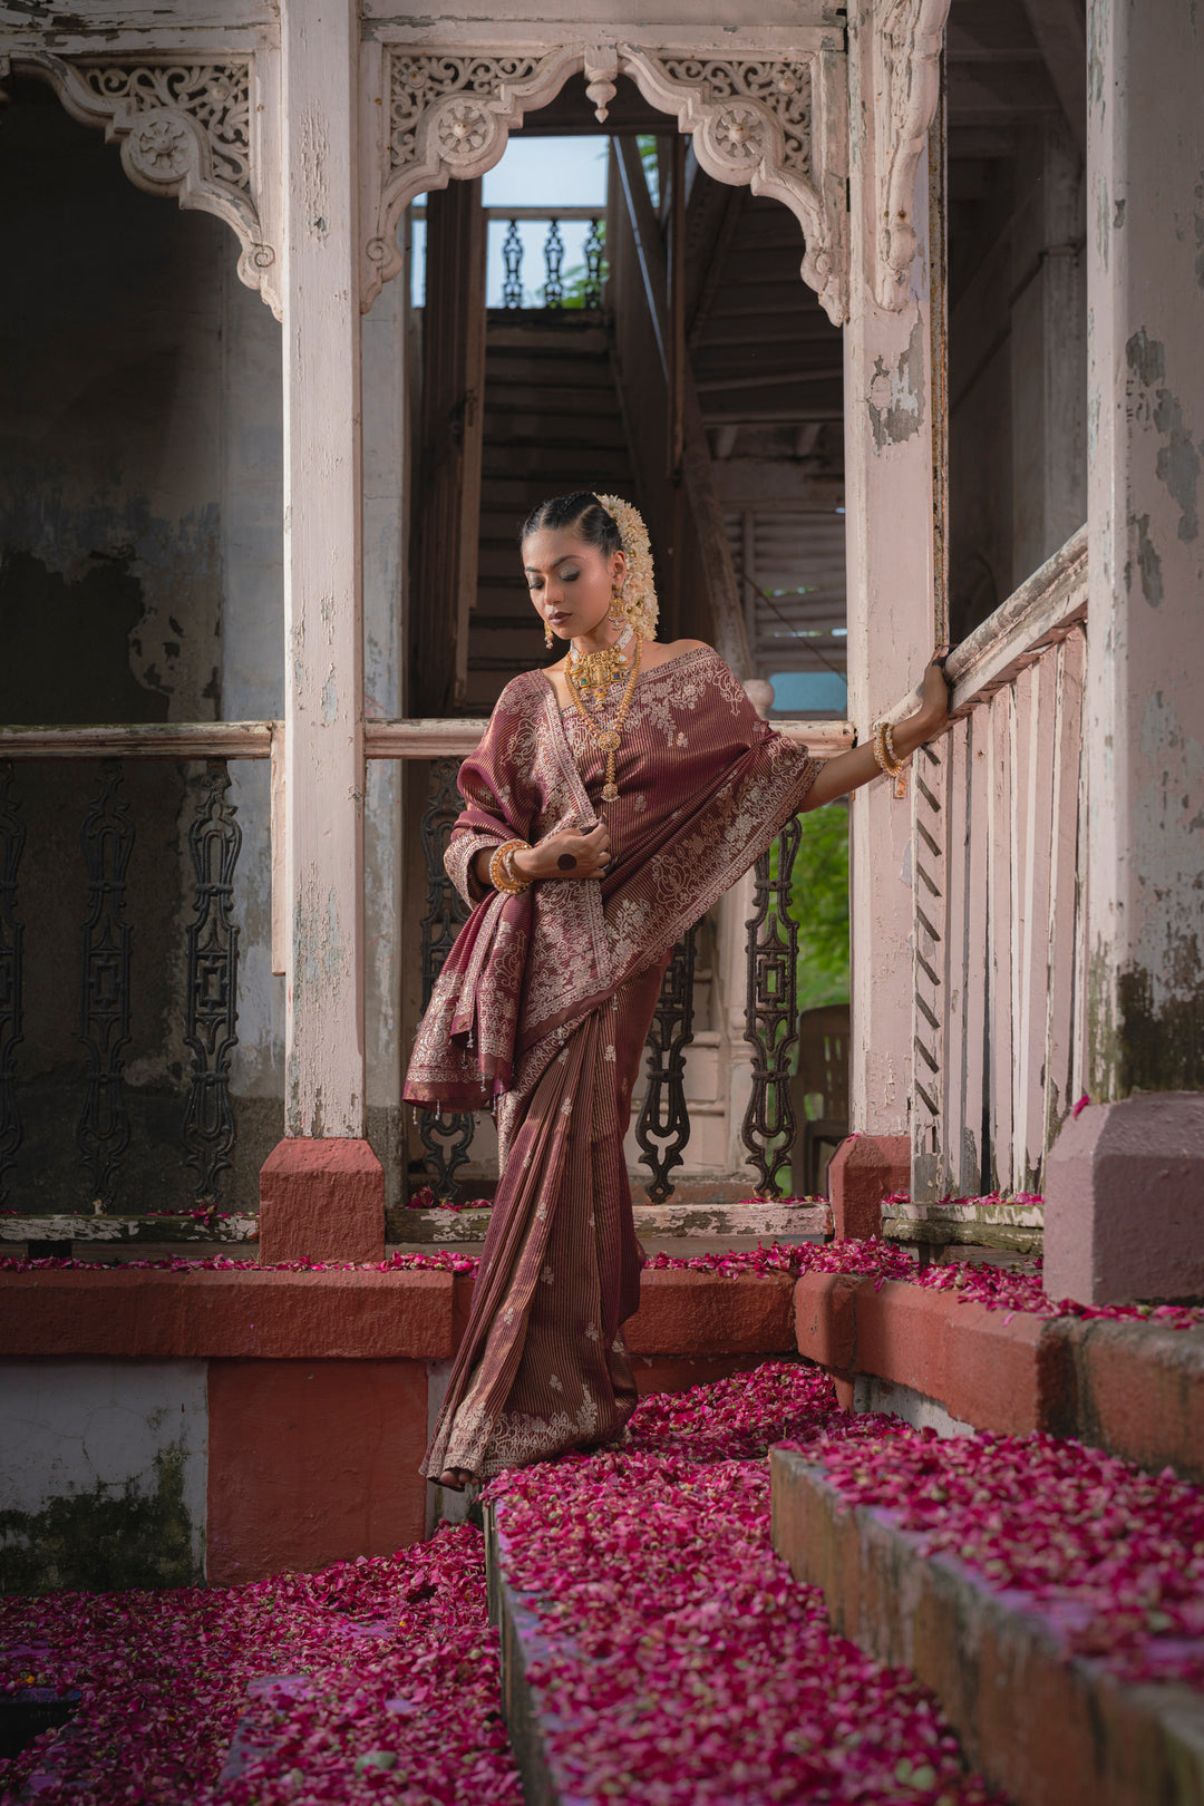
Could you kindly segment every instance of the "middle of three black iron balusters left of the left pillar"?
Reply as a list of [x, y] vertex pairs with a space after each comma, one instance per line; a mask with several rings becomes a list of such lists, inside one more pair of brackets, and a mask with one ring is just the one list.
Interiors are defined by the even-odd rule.
[[103, 1206], [114, 1199], [117, 1163], [130, 1145], [121, 1055], [130, 1042], [130, 923], [123, 919], [123, 910], [134, 822], [119, 795], [121, 782], [121, 766], [107, 759], [81, 833], [88, 916], [83, 925], [79, 1038], [88, 1051], [88, 1076], [76, 1141], [90, 1176], [92, 1201]]

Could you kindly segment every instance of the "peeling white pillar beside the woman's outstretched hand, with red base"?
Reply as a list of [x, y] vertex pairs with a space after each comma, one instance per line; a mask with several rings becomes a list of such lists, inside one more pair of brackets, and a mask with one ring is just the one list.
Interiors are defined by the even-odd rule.
[[[921, 247], [897, 311], [875, 300], [879, 244], [875, 0], [850, 7], [850, 316], [845, 327], [848, 713], [870, 724], [915, 683], [935, 643], [933, 381], [928, 159], [912, 211]], [[852, 798], [852, 1127], [832, 1167], [838, 1230], [865, 1233], [879, 1197], [906, 1185], [912, 1087], [912, 809], [886, 782]], [[857, 1176], [854, 1178], [854, 1168]], [[881, 1190], [877, 1188], [881, 1185]], [[841, 1196], [847, 1192], [847, 1197]], [[865, 1194], [868, 1215], [845, 1221]], [[870, 1197], [870, 1194], [875, 1194]]]

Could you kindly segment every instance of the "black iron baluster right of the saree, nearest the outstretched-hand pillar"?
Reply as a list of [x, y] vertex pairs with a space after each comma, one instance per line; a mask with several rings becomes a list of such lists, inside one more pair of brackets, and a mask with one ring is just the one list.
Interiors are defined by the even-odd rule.
[[771, 856], [756, 861], [753, 916], [747, 921], [747, 995], [744, 1033], [753, 1046], [753, 1091], [742, 1138], [760, 1174], [762, 1192], [780, 1196], [778, 1174], [794, 1149], [791, 1049], [798, 1040], [798, 923], [791, 916], [791, 880], [801, 829], [798, 818], [778, 836], [778, 876]]

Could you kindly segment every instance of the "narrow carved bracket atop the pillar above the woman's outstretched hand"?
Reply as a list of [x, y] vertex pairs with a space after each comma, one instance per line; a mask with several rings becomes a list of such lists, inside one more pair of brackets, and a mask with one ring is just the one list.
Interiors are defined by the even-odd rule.
[[877, 303], [906, 307], [919, 238], [915, 170], [940, 99], [940, 47], [949, 0], [886, 0], [874, 25]]

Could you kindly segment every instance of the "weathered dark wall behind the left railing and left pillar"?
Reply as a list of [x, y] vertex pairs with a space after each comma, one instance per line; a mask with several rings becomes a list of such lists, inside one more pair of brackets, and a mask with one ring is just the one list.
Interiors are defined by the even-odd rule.
[[[0, 396], [0, 609], [7, 722], [249, 721], [282, 715], [280, 327], [236, 276], [236, 246], [204, 213], [135, 190], [103, 137], [52, 92], [13, 85], [0, 139], [5, 237], [23, 247], [9, 294]], [[403, 569], [401, 285], [365, 323], [365, 600], [368, 712], [399, 713]], [[191, 1203], [179, 1131], [190, 1073], [182, 1042], [188, 825], [200, 766], [125, 766], [135, 824], [128, 874], [134, 1035], [125, 1091], [132, 1138], [117, 1206]], [[271, 972], [269, 771], [231, 762], [244, 842], [238, 1123], [224, 1206], [253, 1206], [282, 1132], [283, 981]], [[16, 1208], [87, 1208], [74, 1145], [83, 1102], [79, 825], [99, 766], [22, 766], [29, 829], [25, 1138], [9, 1179]], [[397, 1196], [401, 1122], [397, 943], [399, 773], [368, 778], [370, 1138]]]

